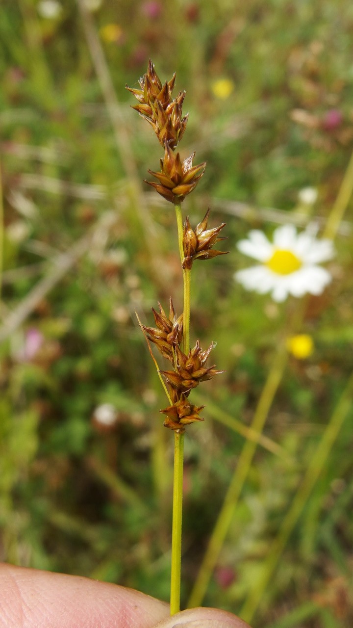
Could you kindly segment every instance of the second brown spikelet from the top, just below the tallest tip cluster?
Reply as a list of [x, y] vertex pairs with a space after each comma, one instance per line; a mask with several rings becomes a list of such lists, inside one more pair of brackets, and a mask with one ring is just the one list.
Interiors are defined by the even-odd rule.
[[198, 181], [205, 171], [206, 163], [200, 163], [198, 166], [192, 165], [195, 153], [192, 153], [184, 161], [180, 160], [179, 153], [173, 153], [170, 146], [165, 144], [165, 156], [160, 160], [161, 171], [153, 172], [149, 170], [149, 174], [155, 176], [159, 183], [155, 181], [145, 181], [148, 185], [155, 188], [158, 194], [161, 194], [171, 203], [180, 203], [187, 194], [192, 192], [197, 186]]

